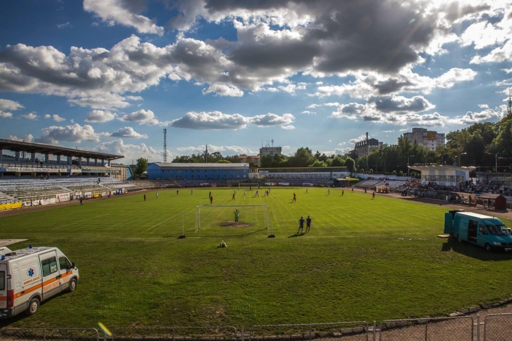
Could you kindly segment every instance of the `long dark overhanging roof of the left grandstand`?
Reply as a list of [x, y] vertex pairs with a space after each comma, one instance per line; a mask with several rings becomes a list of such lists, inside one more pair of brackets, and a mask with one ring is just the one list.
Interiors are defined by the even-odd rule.
[[115, 160], [123, 158], [123, 155], [114, 155], [106, 153], [98, 153], [95, 151], [73, 149], [59, 146], [46, 145], [42, 143], [30, 143], [14, 140], [0, 139], [0, 149], [8, 149], [12, 151], [25, 151], [29, 153], [54, 154], [75, 157], [98, 158], [100, 160]]

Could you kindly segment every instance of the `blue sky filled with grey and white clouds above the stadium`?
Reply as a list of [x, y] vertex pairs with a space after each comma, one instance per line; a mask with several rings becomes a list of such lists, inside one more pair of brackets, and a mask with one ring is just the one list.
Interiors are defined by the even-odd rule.
[[2, 0], [0, 138], [344, 154], [499, 121], [511, 61], [511, 1]]

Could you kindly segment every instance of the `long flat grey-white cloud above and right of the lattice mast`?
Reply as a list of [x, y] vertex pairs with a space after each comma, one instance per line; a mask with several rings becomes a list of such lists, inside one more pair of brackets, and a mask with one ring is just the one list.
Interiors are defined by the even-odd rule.
[[171, 125], [176, 128], [188, 129], [243, 129], [248, 124], [254, 124], [258, 127], [268, 126], [287, 126], [284, 129], [293, 129], [290, 126], [295, 120], [291, 113], [285, 113], [282, 116], [275, 115], [275, 113], [266, 113], [264, 115], [257, 115], [253, 117], [246, 117], [239, 113], [227, 114], [220, 111], [209, 112], [187, 112], [182, 118], [176, 119], [171, 122]]

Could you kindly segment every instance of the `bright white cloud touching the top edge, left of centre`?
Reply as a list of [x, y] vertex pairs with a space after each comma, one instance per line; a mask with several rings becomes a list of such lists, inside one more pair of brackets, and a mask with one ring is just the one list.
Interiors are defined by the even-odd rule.
[[120, 0], [84, 0], [83, 9], [88, 12], [94, 12], [103, 21], [117, 22], [124, 26], [130, 26], [137, 29], [140, 33], [151, 33], [163, 35], [164, 29], [156, 25], [155, 20], [151, 20], [141, 14], [144, 10], [140, 6], [141, 2]]

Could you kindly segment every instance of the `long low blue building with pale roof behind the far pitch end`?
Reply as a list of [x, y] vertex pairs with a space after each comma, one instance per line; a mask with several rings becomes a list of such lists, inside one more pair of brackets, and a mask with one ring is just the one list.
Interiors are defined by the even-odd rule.
[[227, 180], [247, 180], [249, 164], [180, 164], [154, 162], [147, 165], [148, 180], [178, 180], [180, 182], [225, 183]]

